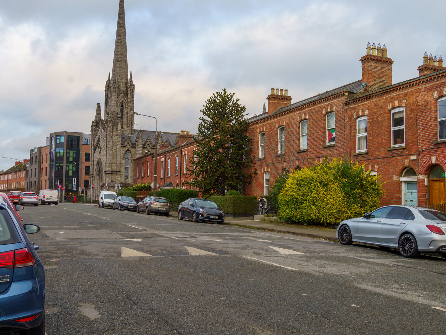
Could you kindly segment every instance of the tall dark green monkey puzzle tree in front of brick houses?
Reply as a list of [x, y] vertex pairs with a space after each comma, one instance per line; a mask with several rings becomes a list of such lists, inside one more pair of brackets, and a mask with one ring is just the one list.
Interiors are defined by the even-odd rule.
[[[200, 111], [196, 148], [188, 168], [192, 188], [202, 197], [243, 190], [252, 181], [253, 160], [248, 155], [251, 138], [246, 135], [246, 108], [235, 93], [215, 92]], [[255, 173], [255, 172], [254, 172]]]

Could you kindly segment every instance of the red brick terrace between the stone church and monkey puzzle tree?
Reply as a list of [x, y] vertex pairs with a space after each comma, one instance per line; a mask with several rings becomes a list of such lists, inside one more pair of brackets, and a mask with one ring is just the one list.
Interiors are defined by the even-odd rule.
[[[157, 151], [157, 189], [162, 188], [190, 188], [185, 184], [190, 177], [187, 176], [186, 167], [190, 167], [190, 157], [195, 148], [190, 131], [182, 130], [173, 146], [170, 143], [158, 141]], [[161, 134], [158, 137], [160, 140]], [[146, 153], [133, 160], [134, 184], [153, 183], [154, 153]]]

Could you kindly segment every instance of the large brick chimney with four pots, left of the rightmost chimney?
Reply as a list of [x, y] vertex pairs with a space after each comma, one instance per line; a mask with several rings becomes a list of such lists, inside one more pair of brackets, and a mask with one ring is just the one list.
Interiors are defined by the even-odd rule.
[[365, 92], [392, 85], [392, 59], [387, 57], [387, 48], [384, 44], [378, 47], [370, 42], [367, 44], [367, 53], [360, 59], [362, 63], [362, 83], [367, 83]]

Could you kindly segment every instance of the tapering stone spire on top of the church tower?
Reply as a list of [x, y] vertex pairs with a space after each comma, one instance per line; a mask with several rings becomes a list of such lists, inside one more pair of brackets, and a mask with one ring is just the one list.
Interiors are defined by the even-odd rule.
[[125, 36], [124, 0], [119, 1], [118, 25], [116, 27], [115, 55], [113, 56], [113, 70], [111, 80], [118, 84], [118, 96], [127, 89], [127, 40]]

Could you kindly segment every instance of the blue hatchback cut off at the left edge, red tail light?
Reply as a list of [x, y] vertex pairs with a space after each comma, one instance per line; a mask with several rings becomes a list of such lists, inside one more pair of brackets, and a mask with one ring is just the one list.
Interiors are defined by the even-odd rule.
[[45, 272], [27, 236], [39, 230], [22, 227], [0, 200], [0, 333], [45, 334]]

